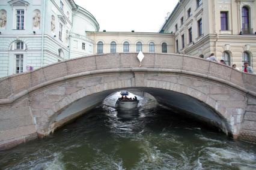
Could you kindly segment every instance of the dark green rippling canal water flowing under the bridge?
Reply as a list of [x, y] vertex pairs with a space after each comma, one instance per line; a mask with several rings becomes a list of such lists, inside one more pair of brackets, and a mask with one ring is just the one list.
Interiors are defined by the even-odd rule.
[[43, 139], [0, 151], [0, 169], [256, 169], [256, 144], [141, 99], [120, 112], [117, 94]]

